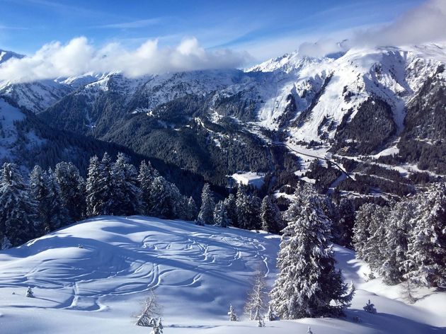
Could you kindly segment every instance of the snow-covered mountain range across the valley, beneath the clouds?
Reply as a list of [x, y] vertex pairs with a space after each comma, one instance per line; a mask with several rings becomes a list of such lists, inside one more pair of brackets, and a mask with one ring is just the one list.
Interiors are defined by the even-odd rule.
[[[39, 113], [52, 127], [130, 146], [195, 173], [217, 170], [219, 178], [240, 169], [265, 172], [271, 164], [247, 154], [243, 166], [215, 159], [205, 166], [209, 160], [193, 158], [198, 148], [212, 155], [236, 142], [259, 148], [278, 139], [299, 152], [329, 154], [338, 163], [377, 159], [376, 168], [406, 176], [426, 170], [446, 175], [445, 63], [442, 44], [352, 49], [321, 58], [293, 52], [244, 71], [137, 79], [91, 73], [0, 83], [0, 94]], [[172, 144], [162, 149], [166, 138]], [[241, 146], [230, 150], [242, 151]], [[273, 161], [268, 152], [259, 154], [262, 161]], [[312, 158], [300, 156], [309, 170], [305, 161]]]

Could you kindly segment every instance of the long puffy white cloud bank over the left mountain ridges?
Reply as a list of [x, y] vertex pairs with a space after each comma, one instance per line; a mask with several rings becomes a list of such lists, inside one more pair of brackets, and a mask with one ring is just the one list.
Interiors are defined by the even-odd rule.
[[177, 47], [159, 47], [147, 40], [135, 50], [118, 43], [96, 48], [84, 37], [66, 45], [52, 42], [23, 59], [10, 59], [0, 65], [0, 80], [29, 82], [40, 79], [76, 76], [88, 71], [122, 71], [130, 77], [167, 71], [193, 71], [240, 67], [250, 56], [231, 50], [208, 51], [198, 40], [188, 38]]

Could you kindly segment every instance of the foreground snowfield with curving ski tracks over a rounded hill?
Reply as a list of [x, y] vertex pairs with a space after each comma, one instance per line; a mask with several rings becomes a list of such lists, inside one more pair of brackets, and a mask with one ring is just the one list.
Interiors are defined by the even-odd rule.
[[[250, 279], [275, 278], [280, 238], [149, 217], [97, 217], [0, 251], [0, 333], [149, 333], [135, 326], [149, 289], [164, 306], [164, 333], [446, 333], [446, 294], [365, 282], [368, 269], [335, 246], [357, 292], [347, 318], [229, 322], [241, 316]], [[83, 248], [80, 248], [81, 245]], [[33, 287], [35, 298], [25, 297]], [[362, 311], [371, 299], [378, 313]], [[353, 322], [359, 316], [360, 322]]]

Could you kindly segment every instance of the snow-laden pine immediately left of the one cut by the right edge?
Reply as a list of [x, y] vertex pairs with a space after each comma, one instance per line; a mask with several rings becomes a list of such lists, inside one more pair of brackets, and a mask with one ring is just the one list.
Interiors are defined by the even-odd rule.
[[406, 273], [408, 234], [411, 230], [415, 207], [413, 200], [401, 200], [392, 208], [384, 221], [385, 243], [383, 245], [384, 263], [378, 270], [387, 284], [398, 284]]

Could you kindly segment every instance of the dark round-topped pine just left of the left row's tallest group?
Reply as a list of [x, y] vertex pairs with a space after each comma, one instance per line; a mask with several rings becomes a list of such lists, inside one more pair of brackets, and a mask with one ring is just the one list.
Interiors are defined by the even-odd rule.
[[84, 219], [86, 210], [85, 180], [71, 162], [57, 163], [55, 178], [59, 183], [60, 196], [71, 221]]

